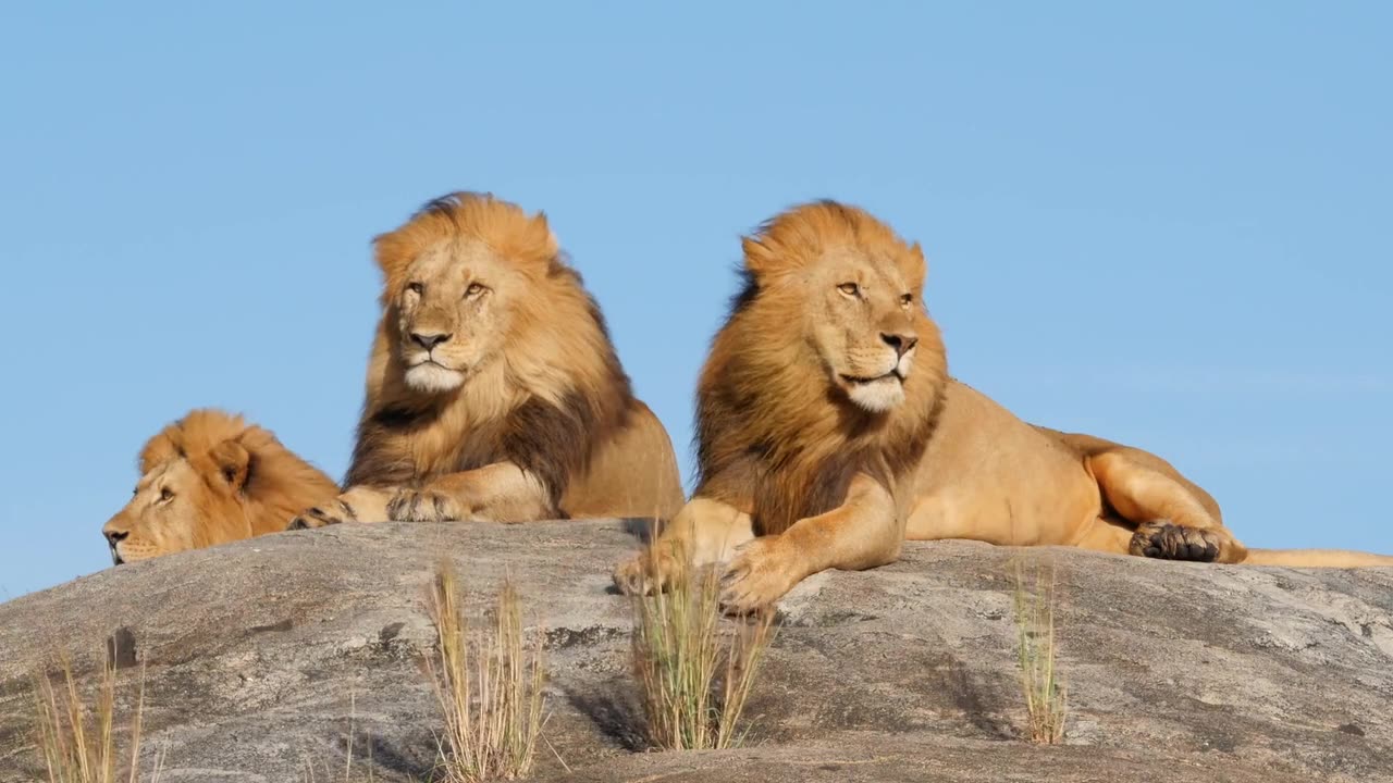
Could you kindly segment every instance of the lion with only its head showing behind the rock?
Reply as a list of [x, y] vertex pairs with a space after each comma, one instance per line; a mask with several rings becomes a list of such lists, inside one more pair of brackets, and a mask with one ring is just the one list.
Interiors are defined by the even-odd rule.
[[141, 478], [102, 528], [117, 566], [286, 529], [338, 485], [242, 417], [201, 408], [141, 449]]

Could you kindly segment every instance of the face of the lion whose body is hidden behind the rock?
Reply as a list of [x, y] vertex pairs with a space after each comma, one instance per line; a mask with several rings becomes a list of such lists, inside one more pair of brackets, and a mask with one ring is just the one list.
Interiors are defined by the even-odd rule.
[[221, 474], [205, 481], [184, 458], [155, 465], [137, 482], [131, 502], [102, 528], [111, 560], [120, 566], [249, 538], [235, 481]]

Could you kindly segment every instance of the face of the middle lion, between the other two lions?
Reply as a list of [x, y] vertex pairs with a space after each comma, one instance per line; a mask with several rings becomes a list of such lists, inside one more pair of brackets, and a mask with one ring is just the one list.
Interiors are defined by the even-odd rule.
[[518, 276], [488, 245], [468, 238], [417, 256], [393, 293], [407, 386], [450, 392], [488, 364], [508, 332]]

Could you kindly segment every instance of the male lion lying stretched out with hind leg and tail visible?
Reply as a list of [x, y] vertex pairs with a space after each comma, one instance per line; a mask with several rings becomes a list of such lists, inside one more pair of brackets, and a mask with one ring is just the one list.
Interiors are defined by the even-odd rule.
[[1145, 557], [1393, 564], [1245, 549], [1159, 457], [1031, 426], [947, 375], [924, 254], [861, 209], [794, 208], [744, 241], [744, 290], [698, 389], [699, 485], [627, 592], [683, 559], [729, 559], [723, 603], [779, 599], [823, 568], [893, 561], [905, 538], [1071, 545]]

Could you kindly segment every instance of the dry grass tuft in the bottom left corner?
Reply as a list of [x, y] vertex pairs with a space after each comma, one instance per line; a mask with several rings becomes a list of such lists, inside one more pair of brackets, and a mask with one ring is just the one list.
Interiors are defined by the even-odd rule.
[[[35, 743], [49, 783], [138, 783], [141, 776], [141, 719], [145, 713], [145, 667], [130, 719], [130, 737], [123, 752], [117, 748], [116, 667], [102, 667], [96, 702], [88, 705], [72, 674], [72, 662], [59, 659], [61, 683], [36, 674], [33, 706], [38, 729]], [[125, 773], [120, 772], [123, 759]], [[163, 757], [156, 757], [148, 780], [159, 780]]]

